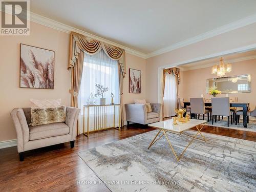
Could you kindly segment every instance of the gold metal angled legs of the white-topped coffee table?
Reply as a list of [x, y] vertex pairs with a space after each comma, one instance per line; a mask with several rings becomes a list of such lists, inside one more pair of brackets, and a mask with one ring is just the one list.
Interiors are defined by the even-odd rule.
[[[164, 135], [165, 138], [166, 138], [166, 140], [168, 141], [168, 144], [169, 144], [170, 148], [171, 148], [172, 151], [173, 151], [173, 154], [175, 155], [177, 161], [179, 162], [180, 159], [181, 159], [181, 157], [183, 156], [183, 154], [184, 154], [185, 151], [187, 150], [188, 146], [189, 146], [195, 139], [199, 139], [199, 140], [202, 140], [202, 141], [205, 141], [205, 142], [206, 142], [205, 137], [204, 137], [204, 136], [202, 135], [202, 133], [201, 133], [201, 130], [203, 129], [203, 127], [204, 127], [205, 124], [206, 124], [206, 122], [203, 123], [203, 125], [201, 124], [202, 126], [201, 126], [200, 128], [199, 128], [199, 125], [196, 126], [198, 132], [197, 132], [197, 134], [194, 135], [194, 136], [187, 135], [187, 134], [183, 133], [184, 131], [181, 132], [180, 134], [178, 134], [178, 133], [175, 133], [175, 132], [172, 132], [172, 131], [169, 131], [169, 130], [160, 129], [159, 127], [156, 127], [157, 129], [159, 129], [159, 132], [157, 133], [157, 135], [155, 136], [155, 138], [152, 140], [152, 142], [150, 143], [150, 146], [148, 146], [147, 149], [149, 149], [152, 145], [154, 145], [154, 144]], [[162, 135], [161, 135], [160, 137], [158, 137], [158, 139], [157, 139], [157, 136], [160, 134], [160, 132], [163, 132], [163, 133], [162, 133]], [[174, 147], [172, 146], [172, 143], [170, 143], [170, 140], [168, 139], [166, 133], [173, 133], [173, 134], [176, 134], [176, 135], [179, 135], [179, 136], [180, 136], [181, 134], [183, 134], [183, 135], [192, 137], [192, 139], [191, 139], [191, 141], [189, 141], [189, 143], [187, 144], [187, 146], [185, 147], [185, 149], [183, 150], [183, 152], [182, 152], [179, 156], [177, 156], [177, 153], [175, 152]], [[198, 138], [198, 137], [197, 137], [198, 134], [200, 134], [203, 139]]]

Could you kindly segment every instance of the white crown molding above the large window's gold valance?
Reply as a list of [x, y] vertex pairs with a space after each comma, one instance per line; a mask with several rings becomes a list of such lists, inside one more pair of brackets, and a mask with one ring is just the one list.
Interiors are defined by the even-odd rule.
[[50, 18], [45, 17], [45, 16], [38, 15], [38, 14], [33, 13], [33, 12], [30, 12], [30, 20], [31, 20], [31, 22], [35, 22], [37, 24], [44, 25], [44, 26], [47, 26], [47, 27], [50, 27], [50, 28], [53, 28], [53, 29], [56, 29], [56, 30], [59, 30], [59, 31], [62, 31], [62, 32], [65, 32], [65, 33], [70, 33], [71, 31], [74, 31], [76, 33], [80, 33], [80, 34], [88, 36], [90, 38], [94, 38], [96, 40], [106, 42], [107, 44], [110, 44], [110, 45], [113, 45], [113, 46], [116, 46], [116, 47], [120, 47], [120, 48], [124, 49], [126, 53], [130, 53], [132, 55], [136, 55], [136, 56], [142, 57], [144, 59], [146, 58], [146, 54], [144, 54], [142, 52], [139, 52], [139, 51], [136, 51], [134, 49], [122, 46], [122, 45], [117, 44], [117, 43], [115, 43], [113, 41], [110, 41], [108, 39], [93, 35], [91, 33], [82, 31], [80, 29], [77, 29], [77, 28], [74, 28], [74, 27], [71, 27], [71, 26], [68, 26], [66, 24], [62, 24], [60, 22], [57, 22], [56, 20], [50, 19]]

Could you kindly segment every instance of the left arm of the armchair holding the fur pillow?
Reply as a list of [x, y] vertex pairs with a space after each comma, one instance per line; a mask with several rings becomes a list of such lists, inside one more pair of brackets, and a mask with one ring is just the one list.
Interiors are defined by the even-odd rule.
[[15, 108], [11, 111], [11, 117], [17, 133], [18, 153], [24, 152], [24, 144], [29, 141], [29, 126], [22, 108]]

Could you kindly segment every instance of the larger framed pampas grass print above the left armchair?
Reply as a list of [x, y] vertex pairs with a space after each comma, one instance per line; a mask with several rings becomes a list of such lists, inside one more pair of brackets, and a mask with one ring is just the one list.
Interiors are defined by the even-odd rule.
[[54, 51], [20, 44], [19, 87], [54, 89]]

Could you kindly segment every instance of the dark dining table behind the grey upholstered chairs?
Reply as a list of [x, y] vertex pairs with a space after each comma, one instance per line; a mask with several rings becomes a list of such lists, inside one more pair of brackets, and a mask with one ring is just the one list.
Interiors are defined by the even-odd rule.
[[[190, 102], [184, 102], [184, 108], [187, 109], [187, 106], [190, 105]], [[205, 106], [211, 106], [211, 102], [205, 102]], [[230, 102], [230, 107], [234, 108], [243, 108], [243, 125], [244, 127], [247, 127], [247, 110], [249, 107], [249, 103], [247, 102]], [[184, 117], [186, 115], [186, 112], [184, 113]]]

